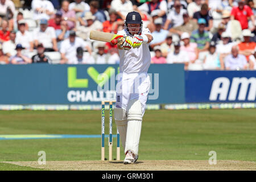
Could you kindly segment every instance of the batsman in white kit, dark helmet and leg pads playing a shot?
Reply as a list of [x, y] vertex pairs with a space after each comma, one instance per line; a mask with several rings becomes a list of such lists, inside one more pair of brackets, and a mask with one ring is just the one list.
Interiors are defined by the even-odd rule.
[[124, 29], [117, 33], [123, 35], [123, 42], [112, 42], [117, 44], [120, 57], [114, 118], [125, 150], [124, 164], [138, 159], [142, 118], [150, 90], [147, 71], [151, 56], [148, 44], [153, 37], [142, 24], [139, 13], [128, 13]]

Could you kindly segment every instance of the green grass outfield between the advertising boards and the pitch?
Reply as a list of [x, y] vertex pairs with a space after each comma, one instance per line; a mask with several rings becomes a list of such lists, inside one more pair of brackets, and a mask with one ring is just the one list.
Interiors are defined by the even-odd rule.
[[[108, 120], [106, 114], [105, 134]], [[100, 135], [101, 111], [0, 111], [3, 134]], [[208, 160], [209, 151], [216, 151], [217, 160], [255, 162], [255, 141], [256, 109], [146, 110], [139, 159]], [[108, 138], [105, 143], [108, 156]], [[0, 170], [33, 170], [1, 162], [37, 161], [39, 151], [46, 160], [100, 160], [101, 139], [0, 140]]]

